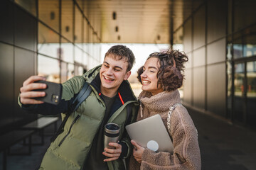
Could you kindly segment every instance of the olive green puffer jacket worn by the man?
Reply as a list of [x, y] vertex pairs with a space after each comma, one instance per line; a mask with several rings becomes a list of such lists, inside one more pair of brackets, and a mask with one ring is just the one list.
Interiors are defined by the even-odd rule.
[[[73, 77], [63, 83], [63, 95], [61, 100], [63, 103], [74, 98], [85, 81], [92, 87], [92, 92], [87, 99], [81, 103], [77, 111], [71, 113], [65, 123], [64, 131], [50, 144], [50, 147], [43, 157], [40, 169], [82, 169], [87, 155], [90, 152], [92, 141], [105, 115], [105, 103], [99, 96], [99, 72], [100, 66], [95, 67], [95, 69], [90, 70], [83, 76]], [[128, 157], [132, 152], [132, 146], [127, 135], [125, 137], [123, 136], [127, 134], [124, 133], [124, 123], [127, 119], [127, 105], [132, 103], [132, 121], [134, 121], [137, 117], [138, 102], [128, 81], [122, 82], [119, 87], [119, 93], [122, 96], [124, 104], [122, 104], [121, 100], [120, 106], [116, 106], [117, 110], [114, 111], [108, 123], [117, 123], [117, 125], [121, 127], [119, 140], [127, 144], [128, 154], [126, 157]], [[66, 106], [64, 106], [64, 108], [65, 107]], [[107, 162], [107, 165], [110, 170], [124, 169], [124, 164], [121, 159]]]

